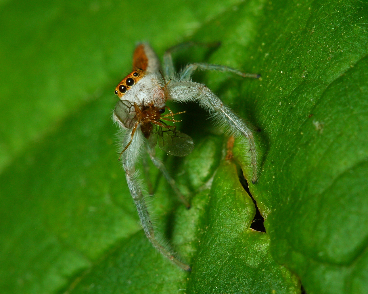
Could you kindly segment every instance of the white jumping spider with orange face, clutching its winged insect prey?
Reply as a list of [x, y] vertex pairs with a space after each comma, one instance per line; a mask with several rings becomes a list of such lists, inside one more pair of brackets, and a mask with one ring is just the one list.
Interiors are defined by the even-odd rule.
[[[191, 43], [175, 46], [164, 54], [163, 72], [153, 49], [147, 43], [140, 43], [133, 54], [133, 70], [116, 87], [115, 94], [120, 98], [116, 103], [113, 120], [125, 132], [119, 160], [122, 161], [131, 196], [138, 210], [144, 233], [152, 245], [166, 258], [180, 268], [190, 271], [189, 265], [181, 262], [176, 254], [157, 238], [145, 203], [140, 183], [135, 175], [135, 163], [143, 151], [147, 152], [153, 165], [164, 175], [178, 199], [190, 208], [186, 197], [177, 188], [162, 161], [155, 157], [156, 145], [168, 154], [185, 156], [194, 148], [190, 136], [179, 132], [176, 122], [179, 114], [166, 106], [168, 100], [174, 102], [198, 101], [216, 120], [230, 129], [230, 133], [247, 139], [252, 168], [252, 182], [257, 182], [257, 153], [253, 134], [245, 122], [229, 107], [224, 105], [208, 87], [192, 82], [191, 76], [196, 69], [208, 69], [232, 72], [243, 77], [259, 78], [259, 75], [243, 73], [222, 65], [193, 63], [188, 64], [179, 73], [174, 71], [171, 53]], [[167, 110], [167, 112], [166, 112]], [[166, 114], [165, 114], [166, 112]], [[170, 124], [169, 124], [170, 123]]]

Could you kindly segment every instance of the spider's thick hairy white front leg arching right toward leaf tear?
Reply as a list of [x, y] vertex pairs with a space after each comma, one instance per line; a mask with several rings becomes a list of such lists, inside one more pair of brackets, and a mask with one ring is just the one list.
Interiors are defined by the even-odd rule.
[[215, 118], [229, 126], [231, 132], [241, 134], [248, 139], [251, 166], [253, 171], [252, 183], [256, 183], [257, 176], [257, 152], [251, 129], [229, 107], [223, 104], [208, 87], [203, 84], [182, 81], [174, 82], [169, 87], [170, 100], [176, 102], [198, 101], [201, 107], [207, 109]]

